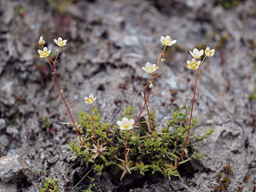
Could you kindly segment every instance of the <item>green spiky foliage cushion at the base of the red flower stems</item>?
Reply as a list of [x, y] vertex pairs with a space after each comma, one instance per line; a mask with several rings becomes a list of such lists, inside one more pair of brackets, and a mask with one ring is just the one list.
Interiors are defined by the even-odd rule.
[[[73, 151], [74, 157], [84, 160], [86, 166], [94, 166], [98, 176], [101, 175], [104, 168], [116, 166], [122, 170], [118, 177], [122, 179], [125, 174], [139, 172], [144, 175], [145, 172], [160, 172], [168, 177], [180, 177], [177, 172], [177, 160], [183, 150], [189, 130], [189, 109], [175, 109], [172, 113], [172, 119], [167, 120], [165, 127], [157, 127], [155, 116], [150, 112], [151, 124], [153, 125], [153, 137], [148, 130], [148, 122], [141, 118], [130, 131], [120, 131], [118, 125], [111, 126], [103, 123], [97, 108], [93, 109], [93, 118], [96, 125], [96, 138], [100, 152], [97, 153], [96, 144], [94, 143], [93, 125], [90, 119], [90, 113], [79, 113], [79, 131], [83, 136], [84, 146], [80, 143], [71, 141], [69, 148]], [[124, 116], [134, 118], [133, 108], [125, 108]], [[121, 119], [121, 118], [120, 118]], [[191, 128], [195, 127], [198, 120], [193, 119]], [[156, 130], [157, 128], [157, 130]], [[207, 131], [201, 137], [192, 137], [193, 143], [203, 140], [211, 135], [213, 129]], [[125, 139], [128, 137], [128, 156], [127, 165], [125, 165]], [[186, 148], [183, 164], [192, 158], [200, 159], [202, 154], [192, 149], [191, 145]]]

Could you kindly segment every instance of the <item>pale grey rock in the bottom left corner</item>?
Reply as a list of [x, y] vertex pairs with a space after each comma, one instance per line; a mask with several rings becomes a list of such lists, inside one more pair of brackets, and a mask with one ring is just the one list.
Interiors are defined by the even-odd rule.
[[0, 158], [0, 178], [4, 183], [15, 182], [17, 178], [26, 177], [34, 180], [37, 173], [33, 172], [26, 161], [19, 155], [6, 155]]

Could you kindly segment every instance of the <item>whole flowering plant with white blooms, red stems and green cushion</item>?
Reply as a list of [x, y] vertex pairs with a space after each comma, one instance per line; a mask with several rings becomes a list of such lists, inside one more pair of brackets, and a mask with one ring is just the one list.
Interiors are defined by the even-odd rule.
[[[108, 123], [102, 122], [97, 108], [92, 108], [92, 104], [96, 101], [96, 97], [92, 95], [84, 97], [84, 102], [90, 105], [90, 113], [80, 112], [79, 122], [74, 122], [67, 102], [61, 93], [56, 70], [56, 62], [58, 61], [61, 47], [67, 44], [67, 40], [62, 40], [62, 38], [55, 39], [55, 44], [60, 48], [56, 52], [55, 59], [51, 59], [49, 57], [51, 50], [44, 47], [45, 41], [43, 37], [39, 39], [38, 44], [42, 45], [43, 50], [39, 49], [38, 54], [41, 58], [47, 58], [49, 67], [55, 75], [55, 81], [61, 98], [79, 136], [79, 142], [72, 140], [69, 143], [69, 148], [74, 154], [73, 158], [84, 160], [86, 166], [92, 166], [98, 177], [101, 176], [105, 169], [119, 167], [122, 170], [119, 174], [120, 180], [126, 174], [132, 174], [133, 172], [138, 172], [141, 175], [148, 172], [151, 172], [151, 174], [160, 172], [171, 179], [171, 177], [180, 177], [180, 174], [177, 172], [177, 166], [191, 159], [202, 158], [202, 154], [193, 148], [193, 143], [209, 137], [213, 129], [211, 128], [201, 137], [190, 137], [190, 143], [188, 143], [189, 132], [198, 121], [198, 119], [193, 118], [192, 113], [196, 86], [201, 74], [201, 66], [207, 57], [214, 55], [215, 49], [207, 47], [205, 50], [193, 49], [193, 51], [189, 51], [193, 59], [187, 61], [187, 67], [192, 69], [195, 75], [192, 106], [191, 108], [176, 108], [172, 113], [172, 119], [167, 120], [166, 126], [156, 129], [154, 112], [148, 110], [148, 98], [152, 94], [154, 80], [158, 77], [156, 72], [160, 68], [160, 62], [165, 61], [166, 48], [176, 44], [177, 41], [171, 40], [170, 36], [162, 36], [160, 42], [164, 45], [164, 48], [156, 64], [147, 62], [145, 67], [142, 67], [143, 71], [148, 73], [148, 82], [144, 86], [144, 104], [138, 117], [135, 118], [135, 111], [133, 107], [129, 106], [125, 108], [123, 116], [119, 118], [116, 125], [111, 126]], [[200, 61], [204, 53], [205, 55], [202, 61]], [[148, 96], [146, 96], [147, 92]], [[148, 120], [142, 116], [144, 108], [147, 110]], [[94, 186], [91, 183], [89, 189], [92, 188]]]

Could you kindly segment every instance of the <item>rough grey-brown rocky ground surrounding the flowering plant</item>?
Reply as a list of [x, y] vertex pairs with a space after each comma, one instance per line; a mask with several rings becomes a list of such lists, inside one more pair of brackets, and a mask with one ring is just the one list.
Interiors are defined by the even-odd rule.
[[[248, 97], [256, 78], [255, 6], [246, 0], [224, 9], [219, 2], [80, 0], [60, 15], [47, 1], [1, 0], [0, 156], [18, 154], [40, 174], [24, 186], [0, 183], [5, 191], [37, 191], [44, 177], [58, 177], [61, 191], [67, 191], [86, 173], [69, 160], [65, 145], [76, 134], [63, 124], [70, 121], [66, 108], [47, 63], [38, 58], [40, 35], [53, 51], [53, 38], [67, 38], [57, 73], [67, 102], [75, 102], [74, 115], [89, 110], [83, 98], [93, 94], [104, 121], [111, 124], [125, 106], [135, 106], [138, 113], [143, 105], [147, 75], [141, 67], [156, 62], [161, 35], [171, 35], [177, 44], [167, 49], [148, 102], [159, 126], [171, 118], [174, 107], [191, 104], [193, 74], [185, 68], [189, 49], [216, 48], [198, 83], [194, 115], [200, 122], [192, 132], [215, 128], [212, 137], [196, 146], [205, 154], [202, 164], [211, 171], [195, 173], [190, 182], [187, 177], [162, 179], [131, 191], [212, 191], [218, 172], [228, 164], [234, 172], [230, 191], [238, 186], [244, 186], [243, 192], [253, 191], [256, 103]], [[48, 131], [43, 128], [46, 117]], [[244, 182], [246, 174], [251, 177]], [[116, 186], [107, 178], [102, 190], [114, 191]]]

